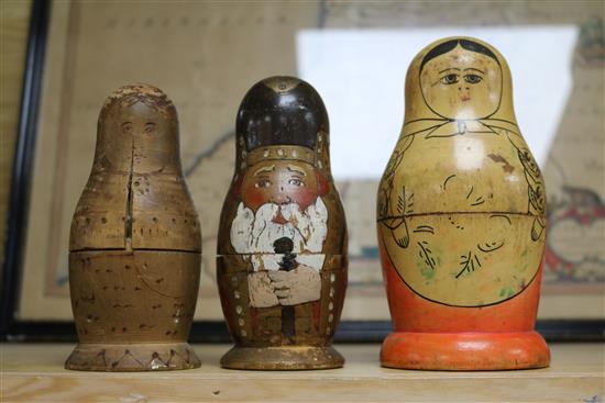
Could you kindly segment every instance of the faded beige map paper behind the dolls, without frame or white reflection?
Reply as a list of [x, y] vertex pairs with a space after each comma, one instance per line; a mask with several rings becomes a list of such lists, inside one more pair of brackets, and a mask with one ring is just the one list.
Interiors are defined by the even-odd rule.
[[[437, 2], [184, 2], [178, 7], [150, 2], [144, 8], [133, 2], [54, 2], [19, 315], [72, 317], [69, 221], [90, 170], [98, 113], [111, 90], [128, 82], [148, 82], [175, 101], [184, 169], [204, 234], [196, 317], [222, 320], [213, 276], [216, 234], [233, 173], [235, 111], [245, 90], [263, 77], [297, 74], [299, 30], [443, 24], [579, 27], [580, 40], [570, 60], [574, 88], [542, 169], [550, 225], [540, 309], [541, 317], [602, 316], [603, 7], [541, 1], [491, 2], [488, 7], [461, 2], [448, 10]], [[406, 68], [402, 67], [402, 80]], [[397, 135], [393, 133], [393, 142]], [[338, 182], [337, 178], [351, 255], [343, 320], [389, 317], [376, 246], [378, 179]]]

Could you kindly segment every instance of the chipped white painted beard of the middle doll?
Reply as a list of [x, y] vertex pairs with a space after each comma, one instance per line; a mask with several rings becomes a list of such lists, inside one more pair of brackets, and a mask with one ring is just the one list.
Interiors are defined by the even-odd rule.
[[[287, 221], [285, 224], [273, 220], [282, 212]], [[320, 197], [305, 211], [297, 203], [265, 203], [256, 214], [243, 203], [238, 206], [238, 213], [231, 224], [231, 245], [239, 254], [251, 254], [250, 260], [254, 270], [279, 270], [282, 256], [275, 254], [273, 243], [287, 237], [293, 240], [293, 253], [296, 260], [321, 270], [323, 265], [323, 242], [328, 234], [328, 209]]]

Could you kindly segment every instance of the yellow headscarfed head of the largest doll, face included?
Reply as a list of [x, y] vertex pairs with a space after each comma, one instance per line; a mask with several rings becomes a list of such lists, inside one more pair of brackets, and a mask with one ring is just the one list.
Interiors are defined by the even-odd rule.
[[465, 36], [420, 51], [406, 77], [406, 124], [486, 119], [516, 124], [510, 70], [501, 53]]

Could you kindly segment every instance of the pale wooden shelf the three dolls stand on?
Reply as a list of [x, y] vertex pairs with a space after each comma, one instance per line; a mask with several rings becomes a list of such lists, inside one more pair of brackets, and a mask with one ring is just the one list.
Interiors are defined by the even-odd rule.
[[145, 373], [63, 369], [74, 346], [0, 345], [0, 402], [603, 402], [605, 344], [551, 345], [547, 369], [492, 372], [381, 368], [380, 345], [337, 346], [342, 369], [221, 369], [227, 345], [194, 345], [199, 369]]

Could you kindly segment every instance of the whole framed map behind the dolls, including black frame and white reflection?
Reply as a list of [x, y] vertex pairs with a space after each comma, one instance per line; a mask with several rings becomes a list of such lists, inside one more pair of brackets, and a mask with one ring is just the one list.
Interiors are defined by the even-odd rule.
[[[602, 337], [602, 11], [591, 1], [469, 1], [447, 10], [437, 2], [34, 1], [3, 270], [4, 290], [12, 290], [2, 295], [3, 333], [48, 334], [63, 323], [72, 334], [68, 228], [91, 167], [98, 113], [113, 89], [146, 82], [175, 102], [183, 166], [200, 214], [204, 261], [193, 339], [224, 340], [215, 258], [234, 169], [235, 111], [253, 82], [292, 75], [317, 88], [331, 121], [350, 238], [337, 339], [380, 339], [391, 325], [375, 198], [403, 122], [404, 75], [416, 44], [457, 33], [502, 49], [515, 88], [524, 88], [519, 80], [538, 80], [515, 93], [515, 104], [527, 105], [517, 110], [519, 124], [539, 149], [550, 209], [538, 328], [553, 338]], [[557, 96], [540, 92], [553, 86]], [[360, 157], [364, 149], [370, 158]], [[48, 327], [40, 331], [38, 324]]]

